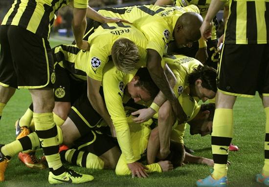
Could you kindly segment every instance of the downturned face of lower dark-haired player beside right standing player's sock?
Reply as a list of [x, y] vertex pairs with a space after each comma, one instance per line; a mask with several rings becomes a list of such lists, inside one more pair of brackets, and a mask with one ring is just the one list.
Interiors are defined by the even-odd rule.
[[207, 120], [199, 120], [197, 123], [190, 126], [190, 134], [200, 134], [201, 136], [205, 136], [212, 132], [212, 121]]

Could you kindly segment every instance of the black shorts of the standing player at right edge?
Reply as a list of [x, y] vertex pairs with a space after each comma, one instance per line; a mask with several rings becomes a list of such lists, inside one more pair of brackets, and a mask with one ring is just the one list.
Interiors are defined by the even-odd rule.
[[224, 44], [218, 70], [218, 88], [225, 94], [269, 96], [269, 45]]

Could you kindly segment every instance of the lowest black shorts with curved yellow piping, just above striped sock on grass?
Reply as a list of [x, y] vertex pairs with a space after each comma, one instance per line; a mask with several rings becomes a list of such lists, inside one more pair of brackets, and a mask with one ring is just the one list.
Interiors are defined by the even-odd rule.
[[91, 130], [90, 133], [76, 140], [74, 144], [74, 148], [90, 152], [96, 156], [100, 156], [118, 145], [116, 139], [94, 130]]

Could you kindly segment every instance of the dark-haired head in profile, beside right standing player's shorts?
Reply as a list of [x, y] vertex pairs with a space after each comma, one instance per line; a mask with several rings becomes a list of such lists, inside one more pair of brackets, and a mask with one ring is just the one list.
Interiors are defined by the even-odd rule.
[[198, 97], [205, 102], [213, 99], [217, 92], [217, 71], [207, 65], [199, 65], [196, 70], [188, 76], [190, 84], [190, 95]]

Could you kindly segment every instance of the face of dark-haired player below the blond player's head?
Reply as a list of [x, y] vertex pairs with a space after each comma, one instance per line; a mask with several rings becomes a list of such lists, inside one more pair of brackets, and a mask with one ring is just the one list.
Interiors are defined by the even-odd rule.
[[137, 83], [138, 80], [131, 81], [130, 83], [127, 84], [128, 86], [128, 92], [130, 96], [134, 99], [134, 102], [139, 102], [139, 101], [144, 101], [148, 102], [151, 100], [150, 94], [143, 90], [139, 86], [134, 86], [135, 83]]

